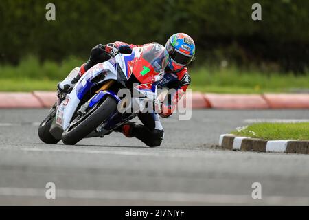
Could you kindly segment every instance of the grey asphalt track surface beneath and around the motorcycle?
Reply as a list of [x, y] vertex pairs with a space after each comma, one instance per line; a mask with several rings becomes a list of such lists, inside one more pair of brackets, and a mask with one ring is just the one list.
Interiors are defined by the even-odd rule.
[[[76, 146], [43, 144], [47, 109], [0, 110], [0, 205], [309, 205], [309, 157], [225, 151], [220, 134], [253, 119], [308, 120], [308, 110], [193, 111], [162, 120], [165, 139], [148, 148], [121, 133]], [[46, 184], [56, 199], [46, 199]], [[253, 199], [260, 182], [262, 199]]]

